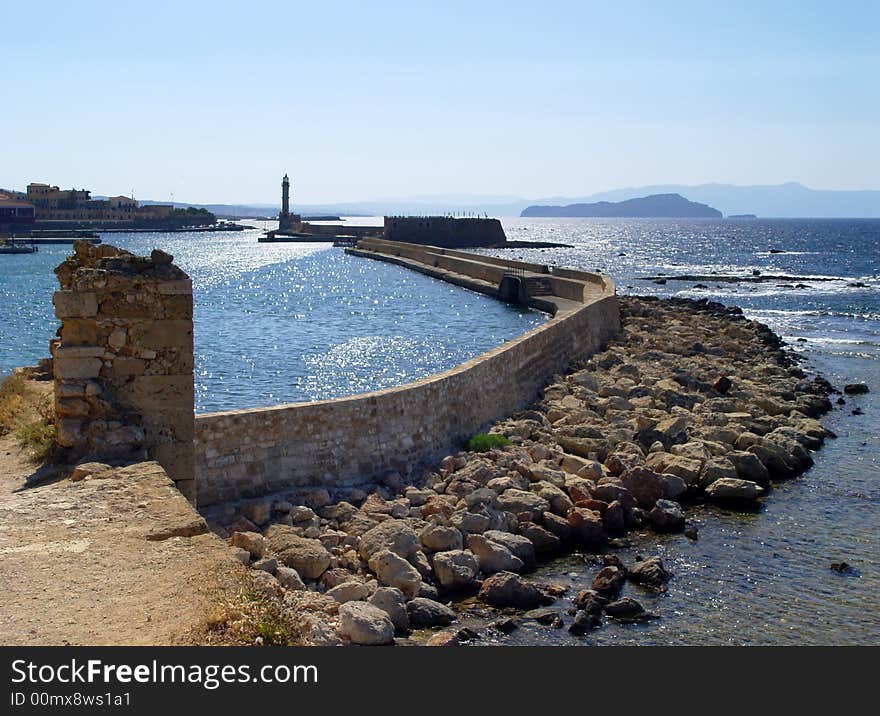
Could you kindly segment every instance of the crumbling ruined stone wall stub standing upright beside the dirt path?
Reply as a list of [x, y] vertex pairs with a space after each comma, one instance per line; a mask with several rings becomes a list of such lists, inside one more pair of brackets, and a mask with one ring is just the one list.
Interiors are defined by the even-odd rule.
[[195, 501], [192, 282], [172, 260], [79, 241], [55, 270], [57, 441], [71, 460], [156, 460]]

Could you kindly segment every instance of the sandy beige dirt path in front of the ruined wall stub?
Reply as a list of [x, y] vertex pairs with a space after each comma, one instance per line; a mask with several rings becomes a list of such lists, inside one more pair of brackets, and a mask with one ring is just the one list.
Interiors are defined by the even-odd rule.
[[242, 568], [164, 471], [142, 463], [29, 487], [33, 473], [0, 438], [0, 644], [197, 639]]

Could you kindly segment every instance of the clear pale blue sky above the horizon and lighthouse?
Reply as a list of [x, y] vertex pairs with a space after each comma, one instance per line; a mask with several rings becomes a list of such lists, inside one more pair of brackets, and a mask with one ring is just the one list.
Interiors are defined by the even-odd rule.
[[0, 0], [0, 187], [880, 189], [880, 3]]

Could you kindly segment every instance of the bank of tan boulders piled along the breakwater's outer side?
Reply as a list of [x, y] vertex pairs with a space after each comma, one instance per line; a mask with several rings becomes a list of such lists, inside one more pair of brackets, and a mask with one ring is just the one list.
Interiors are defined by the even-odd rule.
[[[427, 628], [442, 629], [428, 644], [478, 640], [455, 627], [454, 607], [474, 595], [504, 610], [489, 627], [500, 633], [515, 627], [509, 609], [577, 635], [657, 618], [621, 588], [664, 590], [671, 575], [609, 547], [646, 529], [695, 537], [690, 502], [757, 509], [832, 436], [816, 418], [836, 391], [737, 308], [620, 302], [606, 350], [492, 426], [508, 446], [449, 455], [406, 483], [392, 473], [370, 490], [300, 489], [207, 515], [255, 593], [299, 614], [315, 644], [412, 643]], [[564, 587], [521, 575], [573, 549], [606, 554], [564, 615], [546, 609]]]

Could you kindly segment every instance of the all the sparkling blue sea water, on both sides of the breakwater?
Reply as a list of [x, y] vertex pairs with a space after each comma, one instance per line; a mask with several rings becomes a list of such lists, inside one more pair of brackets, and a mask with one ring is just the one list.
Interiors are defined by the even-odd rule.
[[[259, 244], [270, 225], [250, 223], [241, 233], [104, 236], [137, 253], [168, 251], [192, 276], [199, 413], [399, 385], [546, 320], [328, 244]], [[586, 637], [523, 620], [501, 635], [482, 628], [496, 615], [463, 605], [481, 642], [880, 644], [880, 220], [502, 223], [511, 240], [570, 248], [491, 253], [602, 271], [620, 293], [740, 306], [777, 331], [806, 370], [841, 388], [864, 382], [871, 392], [846, 396], [823, 418], [837, 437], [804, 475], [776, 485], [760, 511], [696, 505], [688, 509], [696, 540], [642, 533], [615, 545], [624, 562], [657, 554], [673, 572], [663, 594], [626, 587], [659, 619], [608, 623]], [[57, 328], [52, 269], [69, 250], [0, 256], [0, 374], [46, 355]], [[569, 587], [555, 605], [564, 620], [599, 560], [575, 553], [539, 568], [536, 579]], [[839, 562], [850, 569], [830, 568]]]

